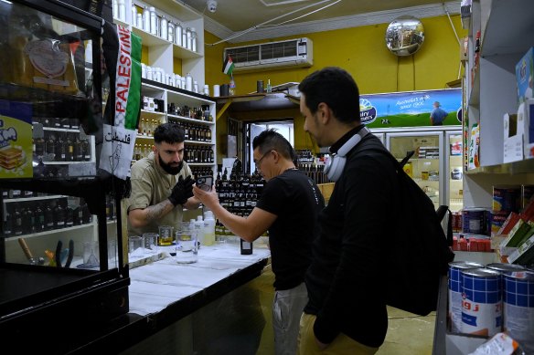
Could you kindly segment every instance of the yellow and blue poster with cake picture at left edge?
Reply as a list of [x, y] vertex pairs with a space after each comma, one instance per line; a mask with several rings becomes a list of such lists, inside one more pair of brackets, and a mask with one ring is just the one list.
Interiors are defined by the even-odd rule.
[[31, 116], [31, 105], [0, 100], [0, 179], [33, 176]]

